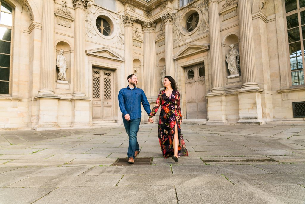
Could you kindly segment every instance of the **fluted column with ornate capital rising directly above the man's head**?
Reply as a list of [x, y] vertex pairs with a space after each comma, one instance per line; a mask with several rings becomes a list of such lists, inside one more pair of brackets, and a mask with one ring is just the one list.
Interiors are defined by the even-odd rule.
[[124, 46], [124, 57], [125, 57], [125, 77], [124, 80], [127, 80], [127, 76], [133, 73], [133, 59], [132, 59], [132, 26], [135, 22], [135, 18], [126, 14], [123, 17], [124, 22], [124, 35], [125, 35], [125, 46]]

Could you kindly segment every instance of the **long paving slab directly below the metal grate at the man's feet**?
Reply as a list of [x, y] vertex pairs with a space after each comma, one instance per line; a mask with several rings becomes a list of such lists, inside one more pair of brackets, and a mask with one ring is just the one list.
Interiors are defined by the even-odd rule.
[[81, 176], [95, 175], [171, 175], [169, 166], [95, 166]]

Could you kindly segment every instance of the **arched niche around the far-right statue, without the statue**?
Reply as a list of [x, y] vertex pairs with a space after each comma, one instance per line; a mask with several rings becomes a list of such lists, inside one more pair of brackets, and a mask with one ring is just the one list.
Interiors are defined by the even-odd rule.
[[[231, 51], [230, 45], [234, 45], [234, 49], [238, 50], [239, 52], [239, 34], [238, 33], [230, 33], [226, 35], [222, 41], [221, 47], [222, 47], [222, 53], [224, 54], [224, 63], [225, 63], [225, 69], [227, 76], [230, 76], [230, 71], [228, 70], [228, 63], [226, 61], [226, 54], [228, 54]], [[239, 73], [240, 73], [240, 58], [238, 58], [238, 65], [239, 65]]]

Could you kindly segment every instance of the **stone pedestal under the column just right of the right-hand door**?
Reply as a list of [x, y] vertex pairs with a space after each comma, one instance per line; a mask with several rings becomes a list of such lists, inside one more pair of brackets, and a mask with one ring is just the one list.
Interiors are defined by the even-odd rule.
[[227, 113], [226, 113], [226, 95], [220, 94], [209, 94], [205, 95], [208, 99], [208, 115], [209, 120], [206, 124], [226, 124]]

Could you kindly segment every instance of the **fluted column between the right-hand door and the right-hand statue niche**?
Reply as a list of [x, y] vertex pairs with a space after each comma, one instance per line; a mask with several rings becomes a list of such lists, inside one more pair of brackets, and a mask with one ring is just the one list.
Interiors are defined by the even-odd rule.
[[221, 63], [221, 40], [218, 14], [218, 1], [209, 1], [210, 56], [212, 70], [212, 92], [224, 91]]

